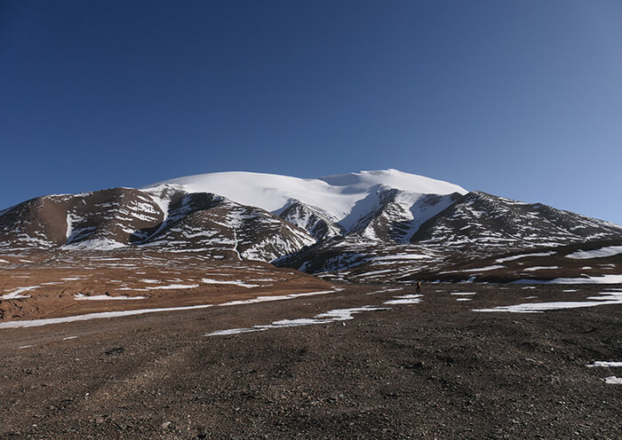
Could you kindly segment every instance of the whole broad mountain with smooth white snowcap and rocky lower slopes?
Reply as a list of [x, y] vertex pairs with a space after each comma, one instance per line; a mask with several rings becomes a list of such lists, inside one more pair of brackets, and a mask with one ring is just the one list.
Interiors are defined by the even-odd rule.
[[[522, 262], [495, 259], [530, 252], [550, 260], [578, 246], [618, 244], [616, 224], [395, 169], [316, 179], [211, 173], [140, 189], [44, 196], [0, 212], [4, 251], [193, 252], [369, 282], [503, 278], [499, 271], [513, 265], [518, 279], [532, 275], [520, 271]], [[574, 267], [570, 260], [555, 267]], [[477, 271], [479, 261], [493, 263]], [[607, 271], [618, 271], [609, 264], [615, 267]]]

